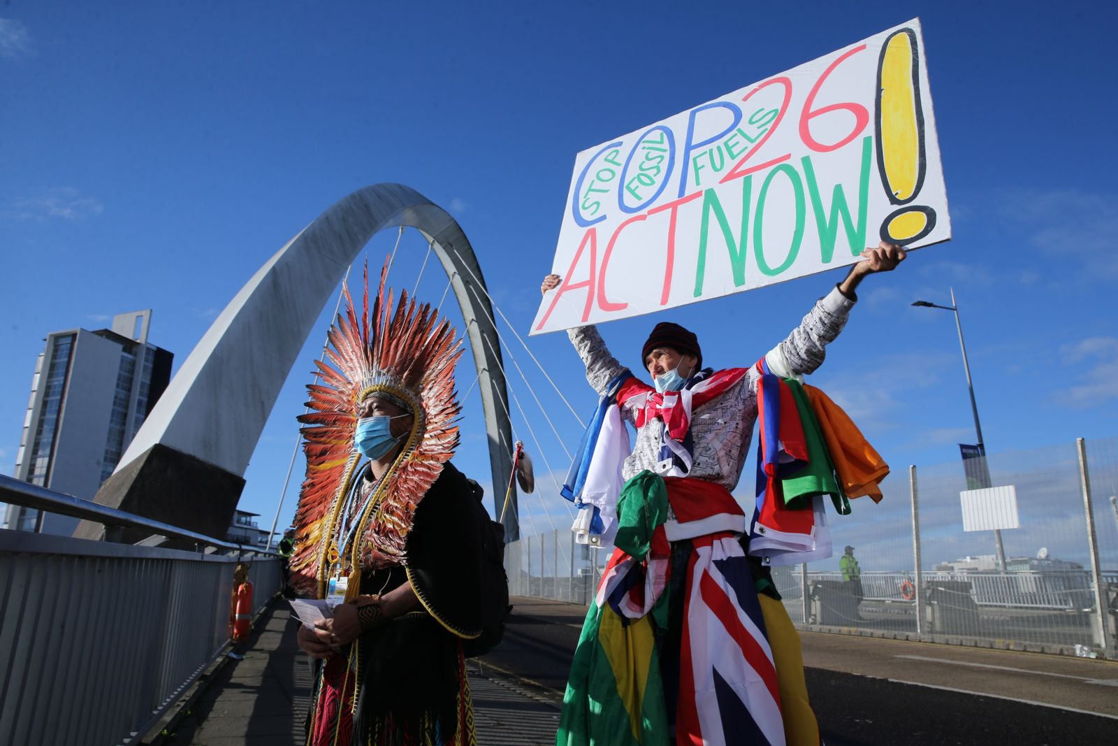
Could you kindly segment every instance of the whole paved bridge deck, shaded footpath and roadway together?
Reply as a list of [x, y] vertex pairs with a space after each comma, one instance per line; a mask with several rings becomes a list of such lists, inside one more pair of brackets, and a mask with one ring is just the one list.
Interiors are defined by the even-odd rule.
[[[481, 746], [550, 746], [586, 608], [512, 598], [502, 644], [470, 662]], [[164, 743], [303, 743], [311, 674], [283, 602], [258, 620]], [[854, 744], [1110, 743], [1118, 663], [1058, 655], [803, 633], [824, 739]], [[944, 714], [950, 717], [944, 717]]]

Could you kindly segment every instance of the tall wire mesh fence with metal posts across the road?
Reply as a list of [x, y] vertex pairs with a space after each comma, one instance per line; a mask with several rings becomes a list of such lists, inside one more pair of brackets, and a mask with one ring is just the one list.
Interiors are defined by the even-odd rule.
[[[1013, 488], [999, 537], [965, 530], [963, 493], [976, 473]], [[1002, 453], [966, 471], [961, 462], [896, 470], [882, 488], [880, 503], [860, 498], [852, 514], [827, 517], [833, 557], [773, 568], [797, 625], [1118, 655], [1118, 438]], [[510, 544], [510, 592], [590, 603], [613, 547], [572, 536]]]

